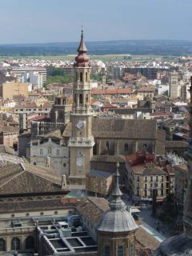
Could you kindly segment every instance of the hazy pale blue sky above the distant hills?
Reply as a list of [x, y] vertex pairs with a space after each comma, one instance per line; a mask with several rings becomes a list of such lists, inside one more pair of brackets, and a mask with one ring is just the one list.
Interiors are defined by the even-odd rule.
[[192, 0], [0, 0], [0, 43], [192, 40]]

